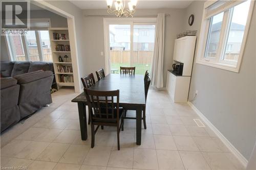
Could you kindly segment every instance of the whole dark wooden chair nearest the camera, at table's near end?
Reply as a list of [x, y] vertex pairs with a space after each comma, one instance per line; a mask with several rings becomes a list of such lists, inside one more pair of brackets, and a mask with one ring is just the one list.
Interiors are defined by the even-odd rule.
[[[91, 148], [94, 148], [95, 134], [99, 126], [112, 126], [117, 128], [117, 147], [120, 150], [119, 133], [120, 129], [123, 131], [123, 109], [119, 109], [119, 90], [95, 91], [84, 88], [84, 93], [91, 115]], [[97, 127], [94, 130], [95, 125]]]

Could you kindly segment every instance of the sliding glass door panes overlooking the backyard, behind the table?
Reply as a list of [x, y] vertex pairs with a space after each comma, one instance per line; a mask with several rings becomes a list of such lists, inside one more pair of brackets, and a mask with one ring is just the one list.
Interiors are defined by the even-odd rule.
[[122, 22], [109, 24], [106, 29], [109, 73], [119, 73], [120, 66], [135, 66], [135, 74], [140, 75], [151, 70], [155, 43], [154, 22]]

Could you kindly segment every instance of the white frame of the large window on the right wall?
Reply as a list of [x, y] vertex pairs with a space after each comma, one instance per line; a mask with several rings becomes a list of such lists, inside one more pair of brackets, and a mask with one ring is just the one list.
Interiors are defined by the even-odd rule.
[[197, 64], [212, 66], [212, 67], [221, 68], [221, 69], [225, 69], [225, 70], [229, 70], [229, 71], [233, 71], [233, 72], [240, 71], [242, 58], [243, 58], [243, 54], [244, 54], [244, 48], [245, 48], [248, 31], [249, 31], [249, 27], [250, 27], [250, 22], [251, 22], [251, 18], [252, 18], [252, 12], [253, 12], [253, 8], [254, 8], [254, 1], [251, 1], [251, 0], [248, 0], [248, 1], [250, 1], [250, 7], [249, 7], [249, 12], [248, 12], [248, 16], [247, 16], [247, 21], [246, 21], [246, 26], [245, 26], [245, 30], [244, 30], [244, 35], [243, 35], [243, 39], [242, 39], [242, 44], [241, 44], [238, 61], [223, 60], [223, 56], [225, 54], [226, 47], [227, 47], [228, 33], [229, 33], [229, 27], [230, 27], [229, 25], [231, 24], [230, 21], [231, 21], [231, 16], [232, 16], [232, 12], [233, 12], [232, 8], [236, 5], [243, 3], [243, 1], [241, 1], [240, 3], [238, 3], [237, 1], [234, 1], [231, 3], [229, 2], [228, 8], [219, 12], [219, 13], [224, 12], [224, 15], [223, 15], [222, 28], [221, 28], [221, 33], [220, 33], [220, 41], [219, 41], [219, 47], [217, 48], [217, 55], [216, 55], [217, 57], [216, 58], [205, 58], [205, 52], [206, 52], [206, 45], [207, 45], [207, 37], [208, 37], [208, 33], [209, 33], [209, 28], [210, 28], [210, 20], [211, 20], [210, 18], [212, 18], [213, 16], [215, 16], [219, 13], [212, 15], [210, 18], [207, 18], [206, 12], [207, 12], [207, 8], [209, 6], [215, 4], [218, 1], [205, 2], [202, 23], [201, 23], [201, 32], [200, 32], [200, 36], [199, 36], [199, 44], [198, 44], [199, 47], [198, 47], [198, 51], [197, 51], [197, 60], [196, 60]]

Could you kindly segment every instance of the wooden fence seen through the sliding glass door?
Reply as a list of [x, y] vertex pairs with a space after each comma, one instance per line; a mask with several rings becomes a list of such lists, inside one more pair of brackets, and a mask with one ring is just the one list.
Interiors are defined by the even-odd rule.
[[152, 51], [110, 51], [111, 63], [151, 64], [154, 52]]

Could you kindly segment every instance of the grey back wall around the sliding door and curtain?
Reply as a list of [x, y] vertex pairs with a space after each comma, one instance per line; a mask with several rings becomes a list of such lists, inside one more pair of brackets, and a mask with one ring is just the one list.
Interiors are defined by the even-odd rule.
[[[164, 47], [164, 86], [166, 84], [167, 69], [172, 68], [173, 49], [176, 34], [182, 31], [184, 9], [139, 9], [136, 14], [141, 15], [157, 15], [157, 13], [165, 12], [170, 16], [165, 17], [165, 47]], [[106, 15], [106, 10], [83, 10], [83, 15]], [[108, 17], [108, 16], [104, 16]], [[111, 15], [110, 15], [111, 17]], [[135, 15], [136, 17], [136, 15]], [[102, 16], [83, 16], [85, 56], [87, 58], [86, 73], [90, 74], [99, 68], [105, 68], [105, 58], [100, 56], [100, 52], [104, 52], [104, 33], [103, 33], [103, 17]]]

